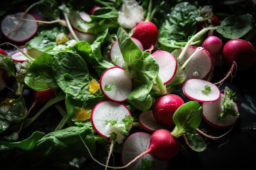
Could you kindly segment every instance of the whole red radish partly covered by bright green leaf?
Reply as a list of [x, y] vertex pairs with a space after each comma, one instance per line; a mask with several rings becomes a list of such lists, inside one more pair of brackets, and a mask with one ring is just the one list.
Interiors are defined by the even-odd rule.
[[152, 113], [157, 121], [164, 125], [174, 126], [173, 114], [184, 101], [175, 94], [168, 94], [159, 97], [152, 106]]

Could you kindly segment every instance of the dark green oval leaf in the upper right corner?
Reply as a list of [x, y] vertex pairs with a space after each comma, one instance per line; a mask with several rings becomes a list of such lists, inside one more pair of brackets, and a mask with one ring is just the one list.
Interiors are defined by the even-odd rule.
[[236, 39], [247, 34], [253, 26], [254, 18], [252, 15], [235, 15], [225, 18], [216, 31], [225, 38]]

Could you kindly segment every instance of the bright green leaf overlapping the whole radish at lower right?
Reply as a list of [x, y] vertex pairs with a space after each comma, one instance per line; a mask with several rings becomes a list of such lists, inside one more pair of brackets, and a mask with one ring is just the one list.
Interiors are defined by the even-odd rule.
[[174, 113], [173, 137], [179, 137], [183, 133], [194, 132], [202, 119], [202, 106], [198, 102], [190, 101], [182, 104]]

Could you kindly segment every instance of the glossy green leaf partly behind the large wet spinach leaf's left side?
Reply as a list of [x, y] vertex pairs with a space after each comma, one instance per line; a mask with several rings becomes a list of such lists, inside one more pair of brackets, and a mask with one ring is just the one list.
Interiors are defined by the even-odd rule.
[[29, 66], [24, 82], [35, 91], [59, 88], [52, 72], [52, 55], [43, 53]]

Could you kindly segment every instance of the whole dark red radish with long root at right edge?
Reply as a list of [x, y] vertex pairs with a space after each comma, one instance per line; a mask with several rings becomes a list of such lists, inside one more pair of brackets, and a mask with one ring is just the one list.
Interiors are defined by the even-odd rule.
[[229, 67], [235, 61], [237, 71], [244, 71], [251, 68], [256, 62], [256, 51], [254, 46], [246, 40], [229, 40], [223, 46], [222, 60]]

